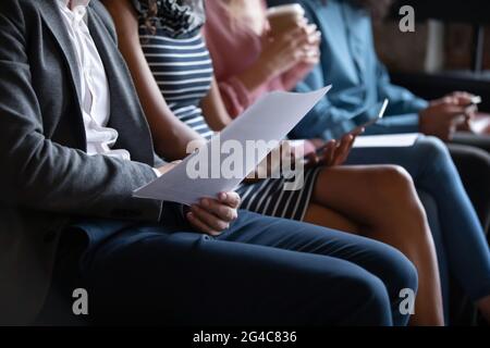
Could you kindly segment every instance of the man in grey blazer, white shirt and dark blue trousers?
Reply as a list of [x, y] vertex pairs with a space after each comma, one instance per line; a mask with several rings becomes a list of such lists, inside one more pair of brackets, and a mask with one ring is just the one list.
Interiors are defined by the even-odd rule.
[[[74, 46], [62, 12], [75, 1], [0, 2], [0, 324], [42, 323], [53, 294], [70, 300], [75, 284], [93, 323], [407, 323], [399, 294], [416, 291], [416, 270], [385, 245], [238, 214], [234, 192], [186, 215], [133, 198], [169, 165], [99, 1], [82, 0], [76, 23], [95, 51]], [[107, 76], [95, 87], [109, 91], [110, 150], [131, 160], [89, 153], [82, 86], [94, 66], [79, 58], [90, 54]]]

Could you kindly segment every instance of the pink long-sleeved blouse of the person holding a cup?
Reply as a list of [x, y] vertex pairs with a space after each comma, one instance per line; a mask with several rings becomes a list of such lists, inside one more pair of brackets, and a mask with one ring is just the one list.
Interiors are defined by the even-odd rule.
[[[291, 90], [306, 76], [311, 66], [298, 64], [285, 74], [265, 82], [256, 90], [247, 90], [236, 76], [260, 55], [261, 37], [245, 24], [232, 21], [222, 1], [206, 1], [207, 22], [204, 32], [221, 96], [230, 115], [236, 117], [262, 94]], [[266, 1], [262, 1], [262, 9], [259, 10], [266, 15]]]

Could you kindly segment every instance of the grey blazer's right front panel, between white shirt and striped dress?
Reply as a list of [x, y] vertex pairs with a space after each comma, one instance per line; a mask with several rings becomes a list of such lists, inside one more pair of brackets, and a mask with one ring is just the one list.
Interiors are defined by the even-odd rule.
[[114, 148], [126, 149], [133, 160], [154, 165], [154, 145], [131, 75], [115, 42], [90, 3], [88, 28], [103, 62], [111, 98], [110, 127], [119, 133]]

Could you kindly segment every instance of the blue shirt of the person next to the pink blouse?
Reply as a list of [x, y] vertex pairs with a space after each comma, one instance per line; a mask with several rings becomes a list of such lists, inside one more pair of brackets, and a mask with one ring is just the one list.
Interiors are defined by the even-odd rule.
[[350, 1], [269, 0], [270, 5], [301, 3], [308, 18], [322, 34], [321, 62], [296, 86], [311, 91], [333, 85], [333, 89], [296, 126], [294, 138], [331, 138], [329, 129], [343, 120], [390, 100], [384, 120], [368, 134], [418, 132], [418, 112], [428, 102], [405, 88], [391, 84], [388, 72], [375, 51], [371, 20], [366, 11]]

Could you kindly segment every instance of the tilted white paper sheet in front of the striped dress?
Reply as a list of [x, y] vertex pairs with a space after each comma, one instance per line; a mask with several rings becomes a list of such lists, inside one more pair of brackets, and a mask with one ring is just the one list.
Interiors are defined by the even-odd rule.
[[[206, 150], [211, 153], [213, 147], [228, 140], [238, 141], [244, 149], [247, 140], [280, 141], [324, 97], [330, 88], [331, 86], [328, 86], [309, 94], [281, 91], [268, 94], [223, 129], [219, 138], [215, 136], [208, 141]], [[234, 190], [267, 154], [257, 157], [256, 161], [250, 161], [252, 163], [246, 163], [244, 167], [246, 174], [241, 177], [224, 178], [218, 173], [217, 177], [194, 179], [187, 174], [187, 164], [196, 156], [197, 153], [188, 156], [172, 171], [135, 190], [134, 196], [184, 204], [196, 203], [204, 197], [216, 198], [219, 192]], [[221, 156], [221, 161], [224, 158], [225, 156]], [[206, 170], [210, 173], [215, 170], [220, 171], [217, 167], [220, 165], [216, 165], [216, 162], [211, 163], [211, 158], [207, 165]]]

